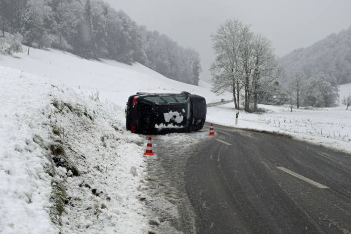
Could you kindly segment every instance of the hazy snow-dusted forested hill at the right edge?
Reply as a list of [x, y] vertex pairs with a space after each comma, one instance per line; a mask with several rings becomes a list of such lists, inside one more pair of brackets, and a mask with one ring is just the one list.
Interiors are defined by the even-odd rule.
[[339, 85], [351, 83], [351, 27], [310, 47], [295, 49], [278, 61], [284, 68], [285, 79], [280, 80], [283, 83], [291, 81], [300, 71], [306, 77], [328, 74], [335, 77]]

